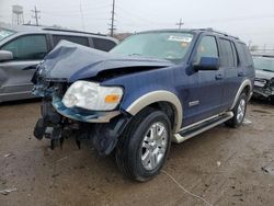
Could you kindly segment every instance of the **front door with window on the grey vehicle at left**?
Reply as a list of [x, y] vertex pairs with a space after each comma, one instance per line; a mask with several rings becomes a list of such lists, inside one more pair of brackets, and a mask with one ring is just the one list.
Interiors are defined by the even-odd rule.
[[0, 62], [0, 101], [30, 98], [32, 76], [48, 52], [46, 35], [20, 36], [0, 49], [13, 54], [13, 60]]

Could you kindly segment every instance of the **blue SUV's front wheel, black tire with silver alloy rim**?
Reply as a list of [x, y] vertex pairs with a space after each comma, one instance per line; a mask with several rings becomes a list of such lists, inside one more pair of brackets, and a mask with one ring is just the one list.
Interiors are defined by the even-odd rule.
[[169, 153], [171, 124], [165, 113], [145, 108], [129, 123], [116, 148], [118, 168], [132, 180], [156, 176]]

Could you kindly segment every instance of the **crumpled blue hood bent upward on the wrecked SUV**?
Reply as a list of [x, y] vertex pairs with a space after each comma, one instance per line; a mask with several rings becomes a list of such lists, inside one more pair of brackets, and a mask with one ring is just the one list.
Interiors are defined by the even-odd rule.
[[119, 56], [61, 41], [39, 66], [39, 76], [73, 82], [95, 77], [100, 71], [140, 67], [163, 68], [172, 66], [169, 60]]

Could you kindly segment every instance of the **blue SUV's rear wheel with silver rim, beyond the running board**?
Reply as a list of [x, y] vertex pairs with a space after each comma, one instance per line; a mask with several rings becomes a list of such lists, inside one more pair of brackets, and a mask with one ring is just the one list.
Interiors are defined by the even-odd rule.
[[226, 122], [227, 126], [237, 128], [242, 124], [247, 112], [247, 104], [248, 96], [246, 93], [241, 93], [237, 104], [232, 110], [233, 117]]

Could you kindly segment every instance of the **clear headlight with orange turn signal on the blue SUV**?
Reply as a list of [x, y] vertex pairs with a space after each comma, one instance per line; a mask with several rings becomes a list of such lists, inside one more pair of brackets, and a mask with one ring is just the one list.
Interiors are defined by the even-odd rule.
[[101, 87], [99, 83], [77, 81], [69, 87], [62, 98], [67, 107], [81, 107], [91, 111], [112, 111], [121, 102], [123, 89]]

